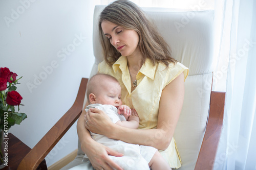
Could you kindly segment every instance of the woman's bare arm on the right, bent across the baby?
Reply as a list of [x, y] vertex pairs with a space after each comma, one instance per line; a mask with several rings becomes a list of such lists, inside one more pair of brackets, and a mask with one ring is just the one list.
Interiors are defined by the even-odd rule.
[[[103, 112], [93, 109], [87, 114], [88, 119], [98, 121], [97, 129], [87, 127], [92, 132], [101, 133], [109, 138], [122, 140], [127, 143], [150, 145], [158, 150], [165, 150], [173, 138], [184, 100], [184, 74], [180, 74], [162, 91], [158, 125], [156, 129], [128, 129], [101, 121]], [[94, 114], [99, 113], [99, 114]]]

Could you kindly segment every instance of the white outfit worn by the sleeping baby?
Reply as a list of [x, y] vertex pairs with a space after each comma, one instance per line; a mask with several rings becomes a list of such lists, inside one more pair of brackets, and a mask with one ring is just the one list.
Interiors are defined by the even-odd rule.
[[[108, 114], [113, 123], [117, 123], [119, 120], [126, 120], [123, 115], [118, 114], [117, 108], [112, 105], [92, 104], [87, 106], [86, 111], [88, 111], [89, 108], [98, 108], [104, 111], [106, 114]], [[110, 139], [104, 135], [92, 132], [90, 133], [95, 141], [102, 143], [103, 145], [119, 153], [124, 154], [121, 157], [110, 156], [110, 158], [119, 166], [121, 166], [124, 170], [150, 169], [148, 163], [154, 156], [157, 149], [144, 145], [126, 143], [121, 140]], [[88, 157], [87, 155], [85, 155], [83, 158]]]

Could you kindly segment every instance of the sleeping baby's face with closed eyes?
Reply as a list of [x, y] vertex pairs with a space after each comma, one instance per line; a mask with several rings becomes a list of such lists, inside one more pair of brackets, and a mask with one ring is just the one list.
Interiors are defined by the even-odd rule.
[[121, 101], [121, 86], [118, 82], [106, 82], [104, 86], [99, 89], [96, 96], [96, 103], [102, 105], [113, 105], [119, 107], [122, 105]]

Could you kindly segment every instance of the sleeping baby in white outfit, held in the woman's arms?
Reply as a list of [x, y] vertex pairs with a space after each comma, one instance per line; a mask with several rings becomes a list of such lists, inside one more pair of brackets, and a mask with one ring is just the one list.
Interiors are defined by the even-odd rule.
[[[112, 122], [126, 128], [137, 129], [139, 116], [135, 109], [122, 105], [121, 86], [110, 75], [97, 74], [87, 85], [87, 99], [90, 108], [98, 108], [111, 118]], [[123, 169], [170, 169], [167, 162], [157, 149], [144, 145], [126, 143], [121, 140], [110, 139], [104, 135], [91, 133], [94, 140], [122, 153], [123, 156], [110, 158]], [[88, 158], [87, 155], [84, 158]]]

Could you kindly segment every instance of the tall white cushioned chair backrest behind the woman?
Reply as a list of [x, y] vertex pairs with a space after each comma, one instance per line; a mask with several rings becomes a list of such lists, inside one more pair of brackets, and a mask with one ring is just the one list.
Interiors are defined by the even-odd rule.
[[[98, 16], [105, 6], [94, 10], [93, 50], [95, 63], [91, 76], [103, 60], [99, 45]], [[165, 8], [142, 8], [155, 22], [172, 48], [173, 57], [189, 68], [185, 81], [185, 99], [175, 130], [175, 140], [182, 166], [194, 169], [203, 140], [212, 83], [214, 11], [178, 11]]]

